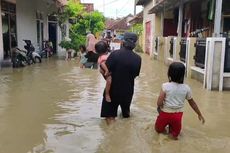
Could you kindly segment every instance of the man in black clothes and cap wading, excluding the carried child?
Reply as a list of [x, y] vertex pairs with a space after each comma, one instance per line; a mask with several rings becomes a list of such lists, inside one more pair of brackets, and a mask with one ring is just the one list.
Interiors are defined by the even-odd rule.
[[118, 106], [122, 116], [130, 117], [130, 105], [134, 92], [134, 80], [140, 73], [141, 57], [133, 52], [136, 47], [137, 35], [125, 33], [124, 47], [110, 54], [106, 61], [112, 76], [110, 88], [111, 102], [106, 102], [105, 94], [102, 100], [101, 117], [106, 118], [107, 124], [117, 117]]

